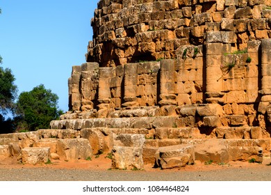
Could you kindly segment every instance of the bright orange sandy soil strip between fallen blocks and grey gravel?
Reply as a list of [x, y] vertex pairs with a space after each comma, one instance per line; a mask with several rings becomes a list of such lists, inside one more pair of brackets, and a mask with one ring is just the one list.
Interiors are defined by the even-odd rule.
[[[174, 169], [157, 169], [147, 164], [144, 166], [144, 171], [213, 171], [220, 169], [234, 169], [234, 168], [258, 168], [271, 164], [270, 157], [264, 157], [263, 163], [249, 163], [249, 162], [229, 162], [227, 164], [205, 164], [204, 162], [196, 161], [195, 164], [178, 167]], [[271, 167], [271, 166], [270, 166]], [[61, 161], [51, 160], [51, 164], [22, 164], [17, 161], [17, 157], [8, 159], [0, 159], [0, 169], [22, 169], [22, 168], [50, 168], [50, 169], [88, 169], [96, 171], [106, 171], [111, 169], [111, 159], [106, 155], [93, 156], [91, 160], [76, 160], [76, 161]]]

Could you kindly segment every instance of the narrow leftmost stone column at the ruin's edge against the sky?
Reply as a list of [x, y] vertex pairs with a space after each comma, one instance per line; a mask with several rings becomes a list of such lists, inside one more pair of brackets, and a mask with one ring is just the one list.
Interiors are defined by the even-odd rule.
[[81, 65], [74, 65], [72, 67], [71, 78], [71, 105], [72, 111], [80, 111], [81, 108], [81, 94], [80, 94], [80, 81], [81, 81]]

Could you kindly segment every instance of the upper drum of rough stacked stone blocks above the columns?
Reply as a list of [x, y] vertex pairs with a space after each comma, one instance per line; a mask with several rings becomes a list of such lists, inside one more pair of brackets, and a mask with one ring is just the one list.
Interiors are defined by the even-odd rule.
[[101, 0], [92, 19], [88, 62], [115, 67], [142, 60], [180, 59], [188, 45], [270, 38], [268, 0]]

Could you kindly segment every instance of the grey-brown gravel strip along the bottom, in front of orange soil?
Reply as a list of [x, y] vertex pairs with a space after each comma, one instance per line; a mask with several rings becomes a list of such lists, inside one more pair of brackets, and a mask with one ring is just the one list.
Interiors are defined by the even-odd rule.
[[271, 166], [208, 171], [93, 171], [84, 169], [0, 169], [1, 181], [271, 181]]

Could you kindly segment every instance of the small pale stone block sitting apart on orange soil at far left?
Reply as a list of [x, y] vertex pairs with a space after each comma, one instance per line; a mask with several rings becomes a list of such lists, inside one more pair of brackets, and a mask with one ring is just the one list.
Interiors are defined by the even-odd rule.
[[40, 164], [48, 162], [50, 148], [23, 148], [20, 159], [23, 164]]

